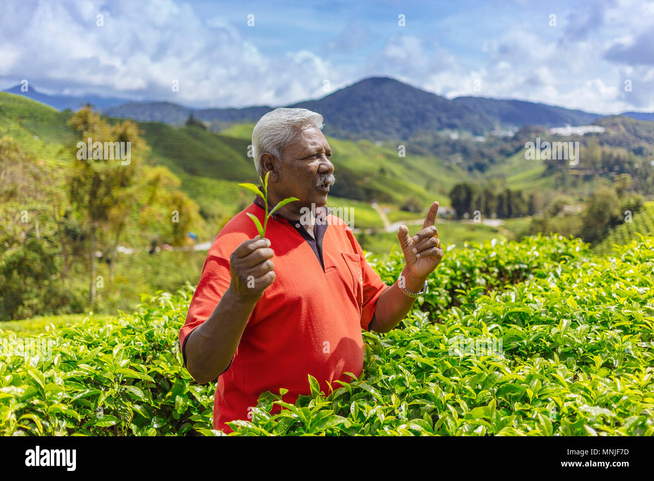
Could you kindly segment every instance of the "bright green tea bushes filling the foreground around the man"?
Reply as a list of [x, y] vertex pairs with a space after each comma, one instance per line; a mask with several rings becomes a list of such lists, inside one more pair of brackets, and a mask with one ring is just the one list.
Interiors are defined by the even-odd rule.
[[[370, 262], [389, 284], [404, 265]], [[364, 333], [359, 379], [275, 416], [279, 393], [264, 393], [231, 435], [654, 434], [654, 238], [611, 257], [560, 236], [471, 244], [428, 285], [397, 329]], [[191, 297], [187, 286], [108, 320], [4, 332], [0, 432], [222, 435], [215, 384], [181, 367]], [[52, 355], [7, 353], [35, 339]]]

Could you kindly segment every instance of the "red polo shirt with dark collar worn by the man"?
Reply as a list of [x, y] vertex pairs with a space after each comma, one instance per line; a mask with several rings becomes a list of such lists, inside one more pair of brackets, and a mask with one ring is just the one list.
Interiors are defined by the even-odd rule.
[[[265, 211], [253, 203], [220, 230], [209, 249], [179, 333], [184, 365], [186, 337], [211, 315], [230, 286], [230, 255], [258, 234], [246, 213], [263, 225]], [[283, 400], [291, 404], [298, 395], [309, 395], [307, 374], [325, 393], [330, 392], [327, 382], [351, 381], [345, 372], [360, 376], [361, 329], [368, 329], [375, 303], [388, 285], [364, 259], [349, 226], [331, 214], [324, 219], [326, 225], [314, 228], [316, 240], [296, 227], [298, 221], [278, 215], [269, 219], [266, 238], [275, 253], [275, 281], [256, 303], [232, 363], [218, 376], [214, 429], [232, 432], [226, 422], [249, 419], [264, 391], [279, 394], [284, 387], [289, 391]], [[338, 387], [336, 383], [334, 389]], [[273, 413], [280, 409], [275, 404]]]

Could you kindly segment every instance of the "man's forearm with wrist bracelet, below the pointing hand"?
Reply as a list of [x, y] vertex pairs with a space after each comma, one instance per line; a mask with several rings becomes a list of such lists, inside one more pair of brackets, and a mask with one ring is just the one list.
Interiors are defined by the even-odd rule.
[[[417, 293], [422, 290], [426, 278], [413, 277], [407, 274], [406, 267], [402, 270], [404, 276], [404, 288], [412, 293]], [[375, 315], [370, 322], [370, 329], [376, 332], [388, 332], [393, 329], [404, 319], [411, 306], [413, 306], [414, 298], [407, 296], [402, 291], [398, 283], [393, 283], [388, 287], [379, 299], [375, 306]]]

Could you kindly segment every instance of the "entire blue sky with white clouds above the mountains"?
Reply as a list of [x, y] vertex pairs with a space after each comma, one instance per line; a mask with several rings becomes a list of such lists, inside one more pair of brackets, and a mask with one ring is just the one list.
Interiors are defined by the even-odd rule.
[[1, 9], [0, 88], [27, 79], [47, 93], [277, 106], [383, 75], [447, 98], [654, 111], [651, 1], [3, 0]]

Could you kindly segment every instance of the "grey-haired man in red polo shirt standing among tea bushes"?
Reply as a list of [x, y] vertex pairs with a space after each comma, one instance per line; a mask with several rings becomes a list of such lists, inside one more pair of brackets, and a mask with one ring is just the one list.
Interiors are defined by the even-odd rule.
[[[294, 403], [310, 393], [307, 374], [325, 393], [328, 382], [351, 381], [345, 372], [360, 376], [361, 329], [398, 325], [443, 257], [434, 202], [413, 238], [400, 226], [406, 265], [392, 286], [381, 281], [351, 229], [324, 207], [335, 177], [321, 128], [322, 116], [306, 109], [275, 109], [256, 124], [254, 165], [269, 172], [269, 205], [299, 200], [275, 212], [266, 238], [247, 216], [264, 223], [259, 196], [220, 230], [179, 334], [193, 378], [218, 378], [214, 429], [225, 433], [228, 421], [251, 418], [264, 391], [286, 388], [284, 401]], [[307, 209], [309, 223], [301, 221]]]

